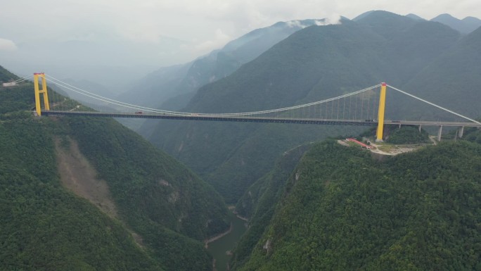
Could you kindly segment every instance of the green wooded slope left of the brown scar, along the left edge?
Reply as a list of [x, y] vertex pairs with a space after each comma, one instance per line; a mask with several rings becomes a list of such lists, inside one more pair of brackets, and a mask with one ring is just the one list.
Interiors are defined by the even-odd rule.
[[[120, 222], [60, 186], [32, 84], [0, 87], [0, 270], [162, 270]], [[8, 108], [8, 111], [7, 109]]]

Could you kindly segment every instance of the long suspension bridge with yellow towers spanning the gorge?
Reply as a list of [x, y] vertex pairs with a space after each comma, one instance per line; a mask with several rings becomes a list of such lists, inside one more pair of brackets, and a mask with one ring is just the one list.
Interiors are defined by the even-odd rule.
[[[31, 76], [32, 77], [32, 76]], [[377, 125], [376, 141], [383, 141], [384, 125], [417, 125], [421, 131], [423, 126], [436, 126], [438, 140], [441, 139], [442, 127], [458, 127], [458, 137], [463, 136], [464, 127], [481, 128], [481, 122], [473, 120], [454, 111], [451, 111], [435, 103], [426, 101], [409, 94], [388, 84], [381, 83], [372, 87], [360, 89], [355, 92], [342, 94], [331, 99], [323, 99], [312, 103], [304, 103], [285, 108], [276, 108], [264, 111], [252, 111], [242, 113], [188, 113], [177, 111], [165, 111], [155, 108], [138, 106], [109, 99], [93, 92], [74, 87], [66, 82], [46, 75], [34, 73], [35, 113], [37, 115], [77, 115], [91, 117], [110, 118], [147, 118], [168, 120], [209, 120], [209, 121], [232, 121], [232, 122], [276, 122], [276, 123], [299, 123], [318, 125]], [[103, 109], [98, 106], [84, 106], [80, 103], [66, 99], [65, 96], [53, 93], [51, 101], [46, 87], [46, 80], [66, 89], [73, 94], [81, 95], [98, 103], [103, 103]], [[18, 80], [27, 80], [22, 78]], [[41, 80], [41, 88], [39, 80]], [[417, 101], [427, 103], [437, 110], [455, 116], [456, 121], [428, 121], [428, 120], [385, 120], [386, 89], [390, 89], [410, 96]], [[380, 90], [377, 92], [377, 90]], [[44, 108], [41, 108], [41, 101]], [[92, 103], [94, 104], [94, 103]], [[92, 109], [92, 108], [95, 108]]]

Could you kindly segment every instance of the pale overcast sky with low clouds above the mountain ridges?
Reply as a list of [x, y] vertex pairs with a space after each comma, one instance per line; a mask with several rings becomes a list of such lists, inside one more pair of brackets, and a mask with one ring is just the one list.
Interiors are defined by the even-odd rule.
[[481, 18], [479, 0], [0, 0], [0, 65], [161, 67], [278, 21], [354, 18], [371, 10]]

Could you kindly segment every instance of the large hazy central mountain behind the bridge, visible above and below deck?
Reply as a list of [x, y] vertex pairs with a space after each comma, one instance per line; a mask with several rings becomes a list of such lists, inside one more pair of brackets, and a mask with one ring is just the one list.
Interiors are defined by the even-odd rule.
[[[267, 110], [390, 82], [402, 84], [459, 39], [439, 23], [372, 12], [356, 22], [295, 32], [235, 73], [199, 89], [185, 111]], [[391, 99], [391, 98], [390, 98]], [[286, 149], [352, 127], [160, 122], [148, 138], [236, 202]]]

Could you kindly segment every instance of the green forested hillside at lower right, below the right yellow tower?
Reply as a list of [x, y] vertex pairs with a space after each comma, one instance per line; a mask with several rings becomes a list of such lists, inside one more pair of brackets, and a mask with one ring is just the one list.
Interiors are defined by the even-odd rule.
[[237, 270], [480, 270], [480, 179], [481, 145], [467, 141], [384, 163], [317, 144]]

